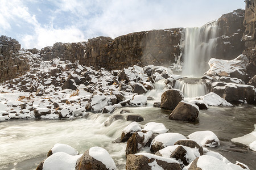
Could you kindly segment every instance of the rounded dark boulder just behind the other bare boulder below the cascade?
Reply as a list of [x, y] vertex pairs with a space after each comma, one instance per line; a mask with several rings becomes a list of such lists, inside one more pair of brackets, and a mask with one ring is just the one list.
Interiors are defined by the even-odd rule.
[[167, 90], [161, 96], [161, 108], [174, 110], [175, 107], [183, 100], [183, 94], [180, 90]]

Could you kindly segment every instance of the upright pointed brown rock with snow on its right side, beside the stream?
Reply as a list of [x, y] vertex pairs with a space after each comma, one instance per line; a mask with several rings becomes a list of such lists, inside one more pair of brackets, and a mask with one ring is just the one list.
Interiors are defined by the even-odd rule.
[[129, 154], [137, 154], [142, 147], [146, 145], [148, 140], [152, 137], [152, 131], [147, 131], [143, 133], [141, 131], [137, 131], [131, 135], [131, 137], [127, 141], [125, 156]]

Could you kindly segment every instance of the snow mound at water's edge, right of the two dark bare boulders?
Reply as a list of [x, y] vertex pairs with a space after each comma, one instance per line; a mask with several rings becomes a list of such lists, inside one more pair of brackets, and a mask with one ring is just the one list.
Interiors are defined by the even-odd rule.
[[219, 95], [215, 94], [214, 92], [209, 92], [209, 94], [199, 97], [199, 99], [204, 100], [205, 103], [212, 106], [232, 106], [228, 101], [221, 98]]

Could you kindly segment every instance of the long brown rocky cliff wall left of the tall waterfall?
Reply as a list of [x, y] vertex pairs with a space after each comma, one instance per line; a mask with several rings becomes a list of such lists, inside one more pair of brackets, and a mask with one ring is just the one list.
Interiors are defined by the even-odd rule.
[[88, 42], [61, 43], [40, 51], [44, 60], [79, 60], [96, 69], [122, 69], [133, 65], [169, 65], [180, 55], [181, 28], [129, 33], [114, 40], [97, 37]]

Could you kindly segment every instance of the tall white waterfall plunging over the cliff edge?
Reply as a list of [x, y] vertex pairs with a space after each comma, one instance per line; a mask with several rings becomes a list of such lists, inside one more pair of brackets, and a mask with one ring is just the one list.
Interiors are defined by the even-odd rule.
[[183, 75], [201, 76], [208, 69], [208, 61], [216, 54], [217, 21], [200, 28], [185, 28]]

